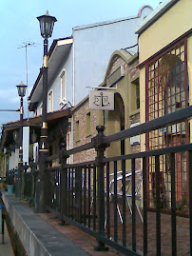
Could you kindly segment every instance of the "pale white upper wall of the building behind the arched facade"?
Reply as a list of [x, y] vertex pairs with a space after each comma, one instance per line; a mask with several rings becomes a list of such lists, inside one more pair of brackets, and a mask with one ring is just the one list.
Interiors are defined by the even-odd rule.
[[[89, 89], [86, 87], [98, 87], [104, 81], [111, 54], [116, 49], [137, 44], [136, 27], [150, 12], [151, 9], [144, 8], [140, 17], [73, 28], [73, 45], [64, 56], [61, 68], [48, 84], [48, 91], [53, 90], [53, 111], [61, 109], [61, 71], [66, 69], [67, 72], [67, 101], [77, 105], [88, 95]], [[137, 52], [137, 47], [128, 50]], [[41, 104], [38, 103], [38, 115], [41, 114]]]

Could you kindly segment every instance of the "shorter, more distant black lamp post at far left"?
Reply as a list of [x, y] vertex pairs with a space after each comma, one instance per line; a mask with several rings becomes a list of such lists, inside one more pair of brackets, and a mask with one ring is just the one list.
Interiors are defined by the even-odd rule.
[[18, 161], [18, 183], [16, 185], [16, 196], [21, 196], [21, 172], [23, 167], [23, 117], [24, 117], [24, 105], [23, 98], [26, 95], [27, 86], [21, 82], [17, 87], [18, 95], [20, 97], [20, 134], [19, 134], [19, 161]]

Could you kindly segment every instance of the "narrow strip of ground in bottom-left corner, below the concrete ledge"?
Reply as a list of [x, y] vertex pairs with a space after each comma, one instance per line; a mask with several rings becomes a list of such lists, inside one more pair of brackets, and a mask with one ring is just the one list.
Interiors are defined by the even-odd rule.
[[0, 256], [14, 256], [6, 223], [5, 223], [4, 244], [2, 244], [2, 234], [0, 233]]

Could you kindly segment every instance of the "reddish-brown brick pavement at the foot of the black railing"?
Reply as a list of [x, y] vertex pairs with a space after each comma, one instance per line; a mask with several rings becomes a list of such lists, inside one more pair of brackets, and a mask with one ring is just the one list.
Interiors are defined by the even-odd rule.
[[[60, 233], [67, 236], [76, 245], [82, 247], [90, 255], [123, 255], [117, 252], [113, 248], [109, 247], [107, 252], [97, 252], [94, 250], [96, 246], [96, 241], [94, 237], [86, 234], [82, 230], [76, 228], [75, 226], [61, 226], [60, 221], [54, 218], [51, 213], [38, 214], [41, 218], [46, 220], [50, 226], [56, 228]], [[156, 214], [154, 212], [148, 212], [148, 256], [156, 255]], [[131, 218], [127, 221], [127, 245], [131, 246]], [[113, 228], [111, 227], [111, 234], [113, 233]], [[122, 240], [122, 226], [118, 225], [118, 237]], [[143, 251], [143, 224], [141, 221], [137, 220], [136, 228], [136, 239], [137, 239], [137, 249]], [[172, 255], [171, 251], [171, 216], [167, 214], [161, 214], [161, 248], [162, 256]], [[189, 219], [177, 217], [177, 255], [178, 256], [188, 256], [190, 255], [190, 242], [189, 242]]]

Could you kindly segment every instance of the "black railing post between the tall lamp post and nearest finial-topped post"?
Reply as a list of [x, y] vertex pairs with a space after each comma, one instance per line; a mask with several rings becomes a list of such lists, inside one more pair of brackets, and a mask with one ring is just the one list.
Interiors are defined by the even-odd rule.
[[60, 204], [61, 204], [61, 213], [62, 213], [62, 225], [66, 225], [66, 222], [63, 218], [63, 216], [67, 215], [67, 149], [66, 149], [66, 142], [62, 145], [62, 152], [60, 156], [61, 161], [61, 167], [60, 167], [60, 173], [61, 173], [61, 184], [60, 184]]

